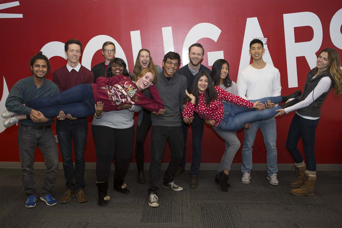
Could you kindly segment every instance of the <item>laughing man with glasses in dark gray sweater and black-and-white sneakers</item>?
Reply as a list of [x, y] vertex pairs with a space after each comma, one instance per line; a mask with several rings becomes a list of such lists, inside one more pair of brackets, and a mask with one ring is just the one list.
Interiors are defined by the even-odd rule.
[[159, 206], [158, 203], [158, 182], [160, 164], [163, 158], [166, 140], [169, 140], [171, 149], [171, 161], [165, 171], [163, 187], [174, 191], [182, 191], [183, 188], [174, 183], [174, 175], [177, 172], [179, 163], [183, 157], [183, 132], [182, 132], [182, 111], [183, 99], [186, 90], [186, 78], [176, 73], [181, 62], [178, 53], [168, 52], [163, 59], [163, 71], [157, 74], [155, 85], [160, 94], [165, 109], [151, 115], [151, 161], [149, 166], [148, 205]]

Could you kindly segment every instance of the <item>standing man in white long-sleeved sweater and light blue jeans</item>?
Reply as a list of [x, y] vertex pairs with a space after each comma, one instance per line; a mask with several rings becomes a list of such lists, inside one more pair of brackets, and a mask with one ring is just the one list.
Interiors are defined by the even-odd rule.
[[[254, 39], [250, 42], [249, 54], [253, 62], [246, 69], [242, 70], [238, 76], [237, 87], [240, 97], [252, 100], [262, 97], [280, 96], [279, 70], [263, 61], [262, 55], [264, 52], [264, 44], [261, 40]], [[264, 137], [267, 151], [267, 179], [271, 185], [278, 185], [275, 118], [251, 123], [250, 128], [248, 130], [245, 129], [244, 146], [242, 147], [241, 182], [244, 184], [250, 183], [252, 147], [259, 128]]]

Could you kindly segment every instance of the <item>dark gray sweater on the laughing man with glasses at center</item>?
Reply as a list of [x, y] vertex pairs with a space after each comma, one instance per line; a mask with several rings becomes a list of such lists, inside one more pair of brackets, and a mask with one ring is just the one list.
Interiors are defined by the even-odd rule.
[[165, 77], [164, 72], [157, 75], [156, 88], [165, 107], [163, 115], [151, 114], [152, 126], [182, 126], [183, 99], [186, 90], [186, 77], [174, 73], [170, 81]]

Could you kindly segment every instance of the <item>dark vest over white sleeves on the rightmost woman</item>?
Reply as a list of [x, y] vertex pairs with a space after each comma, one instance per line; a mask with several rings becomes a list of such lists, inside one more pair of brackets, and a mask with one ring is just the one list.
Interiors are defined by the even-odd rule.
[[[312, 79], [312, 78], [315, 76], [317, 69], [314, 68], [308, 73], [306, 81], [305, 81], [305, 85], [304, 85], [304, 92], [300, 96], [300, 101], [304, 100], [311, 93], [311, 91], [315, 90], [315, 87], [317, 86], [318, 82], [323, 77], [329, 77], [331, 79], [330, 89], [333, 87], [334, 81], [332, 79], [331, 74], [329, 73], [329, 69], [330, 68], [328, 68], [324, 72], [321, 72], [314, 79]], [[330, 91], [330, 89], [329, 89], [329, 91]], [[329, 91], [321, 94], [316, 100], [313, 100], [313, 102], [310, 105], [308, 105], [304, 108], [298, 109], [297, 112], [302, 116], [320, 117], [321, 116], [320, 107], [322, 107], [323, 101], [327, 97]]]

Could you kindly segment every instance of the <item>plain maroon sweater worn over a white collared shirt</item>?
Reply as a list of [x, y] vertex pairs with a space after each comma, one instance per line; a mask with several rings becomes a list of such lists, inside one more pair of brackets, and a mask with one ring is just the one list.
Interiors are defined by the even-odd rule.
[[84, 66], [80, 70], [71, 70], [69, 72], [66, 66], [63, 66], [52, 73], [52, 81], [58, 86], [60, 92], [79, 84], [91, 84], [94, 82], [94, 74]]

